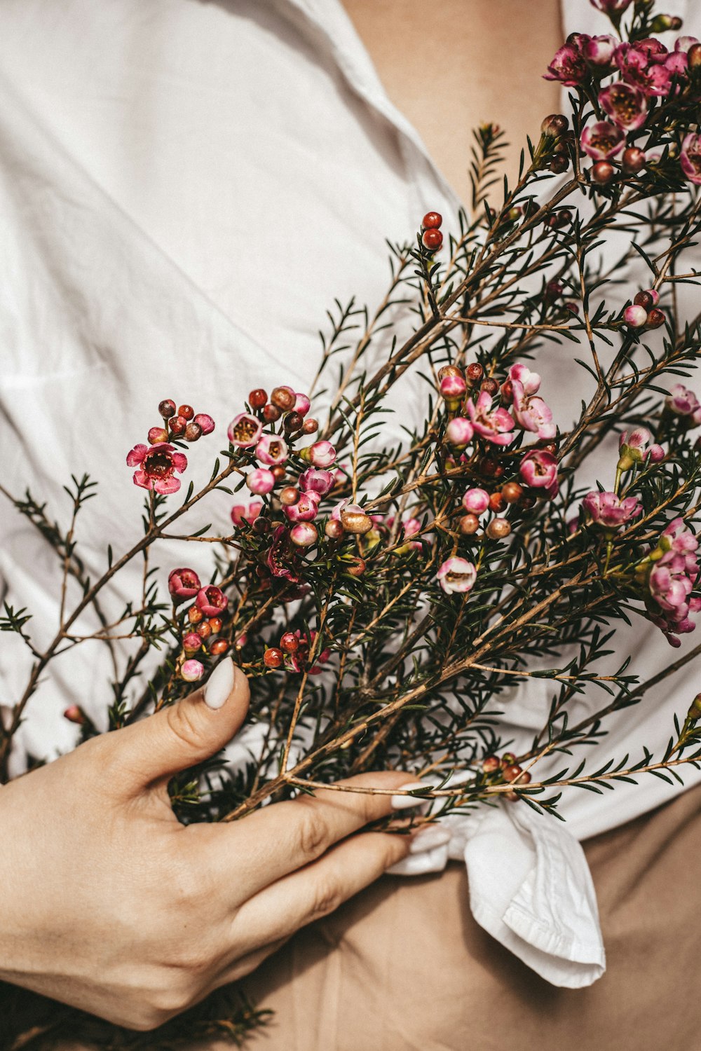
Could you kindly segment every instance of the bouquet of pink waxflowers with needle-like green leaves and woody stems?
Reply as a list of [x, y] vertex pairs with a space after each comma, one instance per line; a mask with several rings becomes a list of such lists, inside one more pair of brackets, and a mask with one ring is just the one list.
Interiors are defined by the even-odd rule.
[[[75, 540], [92, 480], [67, 489], [67, 527], [32, 494], [5, 494], [56, 549], [64, 597], [41, 647], [30, 611], [5, 606], [0, 626], [30, 658], [0, 727], [5, 778], [27, 701], [54, 659], [86, 639], [121, 640], [110, 729], [177, 701], [225, 654], [250, 678], [243, 758], [171, 783], [187, 822], [239, 819], [382, 767], [430, 776], [407, 792], [436, 801], [417, 822], [504, 797], [557, 816], [564, 786], [600, 791], [699, 766], [701, 695], [662, 754], [597, 766], [577, 751], [700, 648], [661, 658], [654, 680], [623, 653], [602, 672], [616, 623], [644, 618], [678, 647], [701, 612], [701, 405], [685, 385], [701, 315], [686, 316], [680, 295], [701, 276], [688, 262], [701, 229], [701, 43], [661, 43], [655, 34], [681, 22], [650, 0], [596, 5], [612, 35], [572, 35], [547, 74], [571, 88], [571, 112], [542, 121], [498, 202], [503, 136], [475, 132], [470, 213], [445, 238], [429, 212], [413, 244], [389, 246], [376, 309], [335, 304], [312, 390], [275, 377], [242, 392], [217, 425], [160, 403], [147, 442], [125, 449], [146, 493], [143, 535], [124, 553], [108, 548], [99, 579]], [[611, 266], [600, 246], [614, 236]], [[609, 286], [632, 260], [644, 287], [612, 307]], [[370, 367], [379, 343], [384, 359]], [[555, 418], [548, 374], [535, 370], [547, 344], [572, 351], [572, 384], [587, 392], [573, 426]], [[387, 448], [387, 406], [409, 372], [422, 383], [424, 417]], [[195, 441], [222, 447], [204, 483], [187, 479]], [[605, 473], [592, 488], [581, 479], [594, 454]], [[205, 508], [222, 492], [231, 527], [220, 535]], [[209, 579], [149, 563], [170, 539], [209, 544]], [[132, 559], [143, 560], [142, 592], [107, 617], [101, 595]], [[69, 609], [71, 580], [81, 596]], [[89, 611], [97, 627], [78, 634]], [[548, 680], [551, 703], [514, 751], [499, 696], [522, 679]], [[573, 702], [597, 691], [600, 704], [573, 720]], [[65, 716], [84, 738], [98, 733], [79, 705]], [[553, 756], [559, 768], [543, 766]]]

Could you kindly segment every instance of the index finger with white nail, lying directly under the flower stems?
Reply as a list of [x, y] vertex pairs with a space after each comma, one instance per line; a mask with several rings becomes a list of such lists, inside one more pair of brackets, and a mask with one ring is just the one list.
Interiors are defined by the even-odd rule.
[[[235, 905], [325, 853], [338, 840], [356, 832], [371, 821], [392, 812], [392, 791], [409, 776], [400, 770], [376, 770], [336, 782], [337, 788], [319, 789], [273, 803], [247, 818], [227, 825], [194, 825], [187, 829], [200, 840], [199, 857], [215, 885], [231, 887]], [[386, 795], [339, 790], [380, 788]], [[203, 841], [207, 847], [203, 850]], [[235, 885], [231, 867], [235, 863]]]

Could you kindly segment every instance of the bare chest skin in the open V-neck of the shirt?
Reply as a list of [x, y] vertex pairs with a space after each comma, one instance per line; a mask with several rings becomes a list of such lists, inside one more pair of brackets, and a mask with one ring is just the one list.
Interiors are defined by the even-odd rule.
[[562, 43], [559, 0], [344, 0], [387, 94], [414, 124], [462, 201], [472, 129], [500, 125], [504, 170], [518, 171], [525, 135], [559, 108], [542, 80]]

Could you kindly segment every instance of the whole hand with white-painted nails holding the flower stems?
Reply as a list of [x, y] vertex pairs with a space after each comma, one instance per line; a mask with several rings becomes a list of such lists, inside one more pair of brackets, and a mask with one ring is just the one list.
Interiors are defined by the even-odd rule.
[[406, 856], [409, 837], [358, 833], [390, 812], [389, 795], [329, 789], [181, 825], [169, 778], [223, 747], [248, 699], [227, 658], [204, 689], [0, 789], [0, 978], [151, 1029]]

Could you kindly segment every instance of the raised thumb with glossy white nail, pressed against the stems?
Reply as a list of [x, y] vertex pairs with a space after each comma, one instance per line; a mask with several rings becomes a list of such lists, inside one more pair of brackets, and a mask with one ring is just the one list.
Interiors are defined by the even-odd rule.
[[139, 788], [201, 763], [239, 733], [248, 713], [248, 679], [230, 657], [205, 685], [112, 737]]

